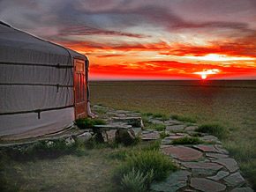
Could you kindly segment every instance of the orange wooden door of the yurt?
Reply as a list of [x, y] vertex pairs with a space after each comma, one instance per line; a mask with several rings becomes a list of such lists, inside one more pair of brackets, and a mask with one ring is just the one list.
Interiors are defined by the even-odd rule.
[[74, 60], [74, 92], [76, 119], [87, 116], [87, 78], [84, 60]]

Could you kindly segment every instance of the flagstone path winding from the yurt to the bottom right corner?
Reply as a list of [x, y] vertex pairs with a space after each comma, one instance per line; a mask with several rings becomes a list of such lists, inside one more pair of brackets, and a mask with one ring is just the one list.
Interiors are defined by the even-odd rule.
[[[107, 114], [117, 117], [139, 116], [139, 113], [109, 109], [107, 107], [94, 106], [94, 108], [108, 109]], [[253, 192], [240, 174], [235, 159], [231, 159], [229, 151], [222, 148], [222, 142], [217, 137], [200, 134], [200, 140], [205, 144], [174, 145], [172, 141], [182, 137], [199, 135], [195, 131], [196, 124], [187, 126], [177, 120], [162, 121], [161, 118], [149, 116], [149, 121], [154, 124], [165, 124], [165, 134], [168, 137], [162, 139], [162, 153], [173, 159], [180, 170], [169, 175], [166, 181], [153, 183], [151, 188], [158, 192], [175, 191], [204, 191], [204, 192]], [[160, 139], [160, 133], [154, 129], [143, 130], [142, 140]]]

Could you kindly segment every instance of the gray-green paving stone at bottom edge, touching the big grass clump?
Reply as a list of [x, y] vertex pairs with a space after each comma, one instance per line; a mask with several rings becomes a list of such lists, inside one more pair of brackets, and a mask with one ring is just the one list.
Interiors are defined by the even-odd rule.
[[150, 189], [162, 192], [175, 192], [179, 188], [184, 188], [187, 185], [188, 176], [190, 175], [191, 173], [188, 171], [174, 172], [165, 181], [153, 183]]

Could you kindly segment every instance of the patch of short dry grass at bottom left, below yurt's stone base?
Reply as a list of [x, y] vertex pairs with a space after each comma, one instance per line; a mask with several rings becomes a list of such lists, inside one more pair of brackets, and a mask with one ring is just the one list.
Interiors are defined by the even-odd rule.
[[[108, 191], [115, 161], [106, 159], [109, 148], [90, 150], [89, 155], [67, 155], [57, 159], [9, 161], [4, 177], [19, 191]], [[18, 191], [18, 190], [15, 190]]]

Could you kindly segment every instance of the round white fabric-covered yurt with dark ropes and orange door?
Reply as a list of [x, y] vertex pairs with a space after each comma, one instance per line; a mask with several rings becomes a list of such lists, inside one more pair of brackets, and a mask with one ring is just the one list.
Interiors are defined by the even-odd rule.
[[0, 139], [39, 137], [90, 114], [87, 56], [0, 21]]

